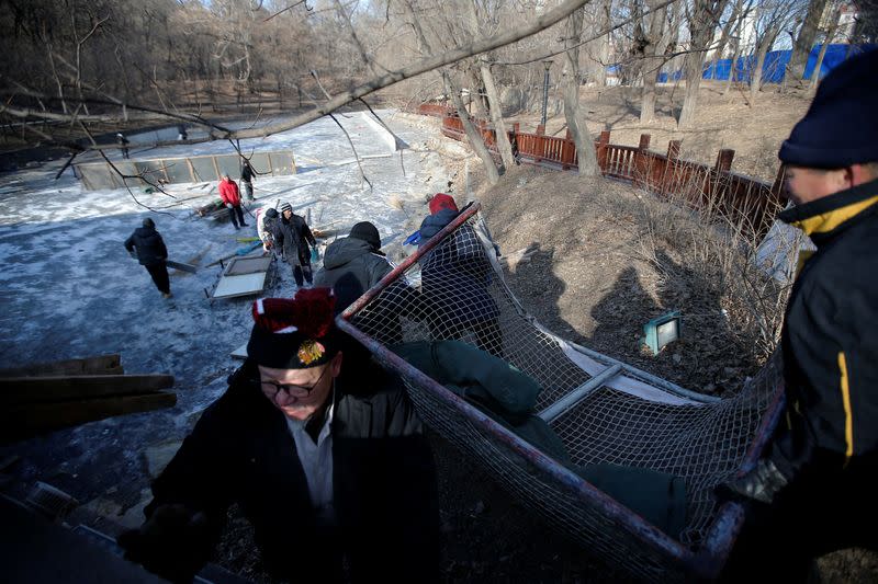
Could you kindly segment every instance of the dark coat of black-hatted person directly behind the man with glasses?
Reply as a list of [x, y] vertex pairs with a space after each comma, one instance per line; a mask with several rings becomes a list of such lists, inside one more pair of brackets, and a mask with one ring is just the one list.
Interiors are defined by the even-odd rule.
[[341, 311], [392, 270], [387, 259], [368, 242], [342, 238], [326, 248], [314, 285], [331, 287], [336, 293], [336, 309]]

